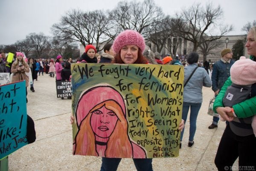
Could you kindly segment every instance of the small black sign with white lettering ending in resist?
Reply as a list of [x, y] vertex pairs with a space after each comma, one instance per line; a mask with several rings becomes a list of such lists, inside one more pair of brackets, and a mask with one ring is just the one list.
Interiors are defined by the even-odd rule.
[[72, 96], [72, 85], [70, 81], [56, 81], [57, 98]]

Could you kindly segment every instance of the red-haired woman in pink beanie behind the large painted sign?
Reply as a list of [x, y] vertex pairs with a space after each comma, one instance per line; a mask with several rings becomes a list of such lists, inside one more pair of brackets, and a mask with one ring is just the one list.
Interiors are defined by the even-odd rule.
[[[137, 31], [125, 30], [121, 32], [113, 42], [113, 50], [116, 52], [116, 58], [112, 63], [118, 64], [148, 64], [147, 59], [143, 57], [145, 42], [143, 36]], [[179, 125], [183, 129], [184, 121]], [[138, 171], [152, 171], [152, 159], [134, 158], [134, 165]], [[101, 170], [116, 170], [121, 158], [102, 157]]]

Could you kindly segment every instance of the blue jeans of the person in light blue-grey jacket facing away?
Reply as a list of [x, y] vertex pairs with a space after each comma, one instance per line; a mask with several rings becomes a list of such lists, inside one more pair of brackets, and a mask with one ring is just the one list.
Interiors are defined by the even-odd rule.
[[[198, 112], [199, 112], [199, 110], [201, 108], [201, 105], [202, 105], [201, 103], [187, 103], [187, 102], [183, 102], [182, 119], [184, 120], [184, 123], [186, 123], [186, 118], [188, 116], [189, 107], [190, 107], [189, 141], [193, 141], [194, 140], [195, 130], [196, 130], [196, 119], [197, 119], [197, 116], [198, 116]], [[182, 141], [183, 133], [184, 133], [184, 129], [181, 132], [180, 141]]]

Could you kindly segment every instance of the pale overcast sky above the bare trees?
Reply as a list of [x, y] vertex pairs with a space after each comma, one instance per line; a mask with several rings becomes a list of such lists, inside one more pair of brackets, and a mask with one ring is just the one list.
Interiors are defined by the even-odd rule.
[[[0, 0], [0, 45], [23, 40], [29, 33], [43, 32], [52, 36], [50, 28], [60, 22], [61, 16], [71, 9], [83, 11], [111, 10], [120, 0]], [[128, 0], [131, 1], [131, 0]], [[143, 0], [139, 0], [143, 1]], [[173, 15], [182, 8], [207, 0], [155, 0], [165, 14]], [[241, 28], [256, 20], [256, 0], [212, 0], [223, 9], [223, 23], [234, 26], [229, 35], [246, 34]]]

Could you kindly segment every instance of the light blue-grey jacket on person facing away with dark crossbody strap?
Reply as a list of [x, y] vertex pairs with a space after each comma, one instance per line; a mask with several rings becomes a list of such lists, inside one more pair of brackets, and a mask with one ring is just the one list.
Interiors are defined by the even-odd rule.
[[[197, 64], [189, 64], [184, 68], [184, 83], [189, 78]], [[204, 68], [198, 67], [195, 73], [189, 79], [183, 90], [183, 101], [188, 103], [202, 103], [203, 92], [202, 88], [211, 87], [212, 81]]]

